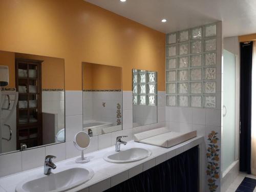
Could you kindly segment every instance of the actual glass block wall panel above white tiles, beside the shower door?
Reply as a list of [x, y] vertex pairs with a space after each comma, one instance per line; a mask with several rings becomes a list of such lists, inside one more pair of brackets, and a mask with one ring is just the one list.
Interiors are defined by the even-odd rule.
[[166, 35], [166, 105], [216, 108], [216, 24]]

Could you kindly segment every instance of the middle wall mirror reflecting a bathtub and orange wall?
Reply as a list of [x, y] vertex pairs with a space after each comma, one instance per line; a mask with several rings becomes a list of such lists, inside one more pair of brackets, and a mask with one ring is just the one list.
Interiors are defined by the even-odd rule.
[[122, 68], [82, 63], [83, 131], [90, 137], [122, 130]]

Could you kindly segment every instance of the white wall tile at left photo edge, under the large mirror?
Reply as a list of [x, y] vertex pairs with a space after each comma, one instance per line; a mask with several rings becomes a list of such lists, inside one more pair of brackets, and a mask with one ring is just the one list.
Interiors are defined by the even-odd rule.
[[16, 152], [0, 156], [0, 177], [22, 171], [22, 153]]

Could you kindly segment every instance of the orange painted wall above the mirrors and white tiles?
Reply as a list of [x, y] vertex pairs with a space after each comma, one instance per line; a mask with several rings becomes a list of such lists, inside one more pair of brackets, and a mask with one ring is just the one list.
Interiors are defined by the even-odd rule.
[[81, 62], [158, 72], [165, 90], [165, 34], [83, 0], [0, 1], [0, 50], [65, 59], [66, 90], [82, 89]]

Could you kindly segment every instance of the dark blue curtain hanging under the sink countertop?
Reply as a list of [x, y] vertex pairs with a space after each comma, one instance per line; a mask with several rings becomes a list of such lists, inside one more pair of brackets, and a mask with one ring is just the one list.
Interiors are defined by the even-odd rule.
[[126, 180], [108, 192], [199, 191], [198, 146]]

